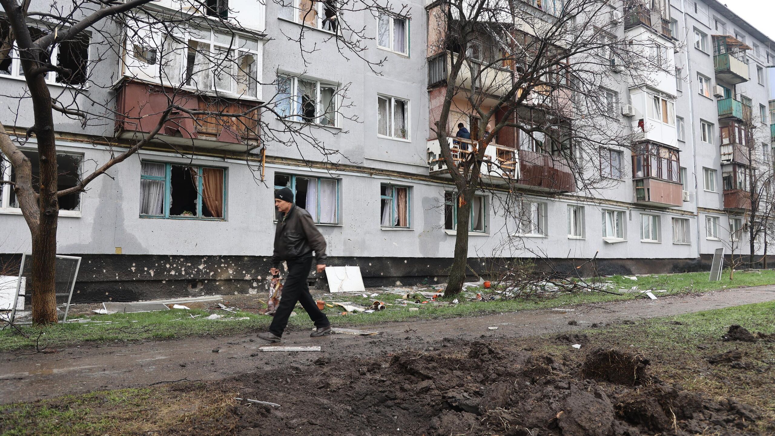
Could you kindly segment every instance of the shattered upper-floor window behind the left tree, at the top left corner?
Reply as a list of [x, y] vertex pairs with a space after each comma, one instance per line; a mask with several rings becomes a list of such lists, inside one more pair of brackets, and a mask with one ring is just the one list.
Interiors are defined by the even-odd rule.
[[[0, 37], [2, 37], [3, 40], [8, 36], [9, 29], [9, 22], [0, 20]], [[49, 32], [48, 30], [38, 29], [36, 27], [28, 27], [28, 29], [33, 41]], [[74, 36], [72, 40], [61, 41], [57, 45], [51, 47], [49, 62], [57, 65], [57, 67], [69, 70], [70, 73], [63, 73], [60, 71], [57, 71], [56, 73], [49, 72], [46, 74], [46, 81], [71, 86], [86, 85], [90, 40], [91, 33], [82, 32]], [[19, 50], [16, 48], [15, 43], [13, 47], [10, 47], [8, 56], [0, 62], [0, 75], [24, 78], [22, 64], [19, 61]]]

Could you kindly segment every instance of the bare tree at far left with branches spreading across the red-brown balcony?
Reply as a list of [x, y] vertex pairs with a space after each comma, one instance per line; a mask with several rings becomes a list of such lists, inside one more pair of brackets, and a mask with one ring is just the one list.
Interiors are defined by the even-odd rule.
[[[338, 105], [323, 106], [312, 114], [305, 107], [288, 109], [293, 98], [284, 92], [287, 84], [277, 75], [269, 81], [260, 78], [260, 44], [267, 36], [263, 26], [251, 22], [255, 11], [236, 14], [226, 2], [204, 0], [0, 0], [0, 5], [0, 64], [26, 84], [22, 92], [3, 95], [18, 106], [9, 108], [15, 112], [15, 126], [0, 124], [0, 155], [14, 174], [12, 181], [0, 183], [11, 186], [32, 235], [36, 324], [57, 322], [60, 205], [84, 192], [115, 164], [149, 144], [164, 144], [181, 156], [191, 156], [203, 140], [231, 144], [229, 150], [249, 164], [260, 162], [256, 154], [271, 145], [312, 145], [320, 155], [315, 158], [325, 160], [339, 151], [327, 148], [323, 135], [341, 133], [325, 130], [325, 120], [356, 119], [341, 112], [350, 108], [347, 85], [327, 95], [331, 102], [341, 102]], [[372, 3], [360, 6], [367, 7], [387, 11]], [[332, 40], [341, 53], [358, 56], [364, 50], [363, 29], [351, 29], [345, 18], [341, 13], [337, 17]], [[301, 54], [315, 50], [305, 45], [303, 35], [297, 37]], [[106, 64], [111, 68], [101, 67]], [[119, 64], [121, 74], [105, 74]], [[52, 82], [61, 87], [50, 87]], [[273, 89], [273, 95], [261, 95], [264, 88]], [[105, 95], [96, 89], [108, 91], [108, 97], [96, 98]], [[22, 119], [22, 112], [30, 109], [31, 123]], [[102, 143], [110, 157], [94, 162], [92, 171], [77, 175], [71, 186], [58, 189], [56, 128], [73, 120], [84, 129], [110, 126]], [[20, 147], [33, 138], [36, 156]], [[33, 166], [40, 168], [38, 174], [33, 174]], [[255, 171], [263, 174], [263, 168]], [[197, 177], [202, 175], [191, 174]]]

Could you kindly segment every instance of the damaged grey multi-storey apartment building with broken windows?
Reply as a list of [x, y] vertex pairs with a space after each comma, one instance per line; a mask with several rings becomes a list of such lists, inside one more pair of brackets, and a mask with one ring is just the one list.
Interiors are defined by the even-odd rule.
[[[536, 13], [556, 13], [560, 2], [524, 1]], [[642, 144], [659, 150], [660, 158], [602, 150], [608, 158], [601, 170], [612, 182], [590, 198], [577, 192], [570, 166], [545, 159], [549, 151], [534, 140], [499, 134], [488, 148], [511, 156], [508, 177], [530, 210], [519, 230], [525, 245], [549, 258], [597, 254], [604, 271], [630, 274], [708, 269], [715, 248], [729, 253], [735, 242], [738, 253], [747, 253], [742, 229], [751, 205], [744, 186], [753, 164], [744, 149], [754, 147], [772, 161], [766, 67], [775, 62], [775, 43], [715, 0], [649, 0], [626, 10], [622, 2], [610, 3], [622, 16], [611, 37], [649, 38], [675, 65], [674, 75], [654, 83], [622, 80], [607, 97], [611, 119], [641, 129]], [[446, 80], [446, 69], [434, 69], [446, 62], [444, 54], [428, 50], [432, 3], [408, 2], [404, 18], [350, 12], [350, 27], [370, 36], [361, 41], [368, 50], [350, 57], [336, 43], [332, 2], [207, 4], [185, 11], [187, 27], [174, 39], [164, 29], [138, 28], [117, 41], [90, 33], [53, 50], [53, 62], [84, 72], [67, 78], [51, 72], [52, 95], [81, 88], [89, 101], [111, 102], [115, 113], [112, 123], [83, 126], [55, 112], [60, 189], [108, 160], [114, 148], [153, 130], [171, 88], [190, 91], [182, 104], [191, 110], [239, 113], [279, 102], [273, 112], [239, 122], [179, 114], [160, 139], [115, 165], [109, 177], [61, 198], [58, 253], [83, 258], [74, 301], [263, 292], [277, 218], [274, 189], [284, 186], [328, 241], [330, 265], [359, 265], [367, 285], [444, 282], [456, 237], [456, 195], [434, 159], [439, 144], [429, 130]], [[178, 11], [176, 0], [143, 7]], [[230, 19], [250, 32], [223, 29]], [[0, 26], [0, 33], [9, 31], [5, 19]], [[303, 54], [293, 39], [302, 27], [304, 44], [315, 47]], [[116, 43], [120, 49], [108, 50]], [[210, 71], [198, 57], [202, 50], [228, 52], [223, 59], [236, 74]], [[367, 64], [383, 59], [379, 72]], [[24, 134], [32, 116], [26, 102], [19, 106], [20, 71], [12, 51], [0, 64], [2, 122], [34, 164], [35, 138]], [[281, 129], [277, 116], [298, 126], [313, 123], [320, 144], [266, 140], [259, 116], [270, 130]], [[450, 136], [457, 123], [470, 127], [471, 121], [463, 113], [452, 116]], [[551, 177], [536, 184], [526, 177], [532, 173]], [[7, 161], [0, 176], [14, 180]], [[493, 195], [477, 194], [471, 211], [470, 264], [480, 272], [505, 237]], [[2, 184], [0, 228], [0, 258], [29, 252], [29, 230], [12, 189]]]

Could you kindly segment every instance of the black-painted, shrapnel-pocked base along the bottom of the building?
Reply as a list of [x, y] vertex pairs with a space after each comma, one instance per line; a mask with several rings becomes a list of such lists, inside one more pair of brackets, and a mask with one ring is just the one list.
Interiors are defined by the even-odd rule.
[[[262, 256], [169, 256], [153, 254], [71, 254], [81, 256], [73, 303], [137, 301], [188, 296], [267, 292], [270, 258]], [[700, 258], [676, 259], [550, 259], [553, 268], [567, 275], [665, 274], [710, 271], [712, 254]], [[775, 256], [772, 256], [775, 263]], [[0, 254], [0, 265], [19, 273], [18, 254]], [[528, 259], [524, 259], [528, 260]], [[769, 259], [768, 259], [769, 260]], [[503, 261], [503, 259], [499, 259]], [[549, 263], [534, 260], [536, 268]], [[769, 263], [769, 262], [768, 262]], [[392, 285], [435, 285], [446, 282], [451, 258], [329, 258], [329, 266], [360, 266], [367, 287]], [[584, 265], [577, 269], [577, 266]], [[495, 271], [487, 258], [470, 258], [477, 275]], [[746, 268], [748, 265], [746, 265]], [[14, 269], [15, 268], [15, 271]], [[761, 262], [753, 268], [763, 268]], [[470, 274], [471, 279], [475, 279]], [[309, 283], [327, 289], [324, 274], [310, 272]]]

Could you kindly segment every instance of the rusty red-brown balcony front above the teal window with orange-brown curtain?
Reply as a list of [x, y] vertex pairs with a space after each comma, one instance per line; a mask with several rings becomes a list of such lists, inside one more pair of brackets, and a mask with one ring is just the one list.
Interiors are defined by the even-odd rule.
[[[116, 132], [119, 137], [139, 139], [152, 132], [162, 113], [174, 99], [185, 109], [242, 113], [256, 106], [255, 102], [240, 102], [208, 95], [195, 95], [179, 90], [165, 93], [160, 85], [126, 81], [116, 95]], [[205, 147], [225, 151], [249, 151], [259, 147], [258, 114], [250, 117], [190, 116], [176, 110], [160, 130], [158, 140], [167, 144]], [[163, 136], [162, 136], [163, 135]]]

